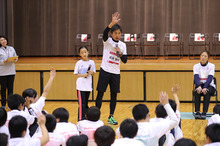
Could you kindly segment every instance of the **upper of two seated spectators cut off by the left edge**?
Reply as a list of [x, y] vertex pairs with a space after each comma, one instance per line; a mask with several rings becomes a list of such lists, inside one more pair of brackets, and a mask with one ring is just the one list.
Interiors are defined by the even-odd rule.
[[8, 135], [8, 137], [10, 137], [8, 127], [5, 126], [6, 120], [7, 112], [5, 108], [0, 107], [0, 133], [5, 133], [6, 135]]

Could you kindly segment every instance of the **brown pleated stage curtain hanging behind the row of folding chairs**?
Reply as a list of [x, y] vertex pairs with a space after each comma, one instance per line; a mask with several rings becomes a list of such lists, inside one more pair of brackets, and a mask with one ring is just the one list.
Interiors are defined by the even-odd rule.
[[118, 11], [124, 33], [158, 33], [160, 55], [164, 34], [182, 33], [187, 54], [190, 33], [220, 32], [219, 6], [219, 0], [8, 0], [8, 36], [20, 56], [69, 56], [77, 54], [76, 34], [89, 33], [95, 55], [98, 34]]

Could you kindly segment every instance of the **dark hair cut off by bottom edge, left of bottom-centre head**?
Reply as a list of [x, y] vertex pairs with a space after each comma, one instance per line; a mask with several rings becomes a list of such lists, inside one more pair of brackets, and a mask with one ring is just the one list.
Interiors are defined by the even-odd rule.
[[84, 134], [71, 136], [66, 142], [66, 146], [87, 146], [87, 144], [88, 137]]

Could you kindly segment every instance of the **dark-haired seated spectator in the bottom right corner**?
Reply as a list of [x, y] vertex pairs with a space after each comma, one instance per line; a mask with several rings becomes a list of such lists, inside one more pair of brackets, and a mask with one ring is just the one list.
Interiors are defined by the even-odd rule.
[[205, 129], [206, 145], [204, 146], [219, 146], [220, 145], [220, 124], [211, 124]]

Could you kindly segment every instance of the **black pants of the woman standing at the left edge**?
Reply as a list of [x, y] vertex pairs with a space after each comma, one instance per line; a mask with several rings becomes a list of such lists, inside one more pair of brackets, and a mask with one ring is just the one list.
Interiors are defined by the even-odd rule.
[[2, 106], [6, 105], [6, 89], [8, 95], [13, 94], [14, 78], [15, 75], [0, 76]]

